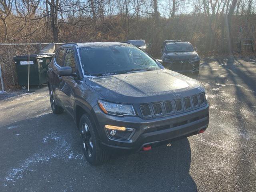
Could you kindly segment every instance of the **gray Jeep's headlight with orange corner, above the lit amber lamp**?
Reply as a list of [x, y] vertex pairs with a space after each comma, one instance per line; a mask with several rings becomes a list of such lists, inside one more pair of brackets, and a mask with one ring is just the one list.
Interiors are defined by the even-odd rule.
[[98, 100], [98, 105], [106, 114], [124, 116], [135, 116], [135, 111], [132, 105], [111, 103], [104, 100]]

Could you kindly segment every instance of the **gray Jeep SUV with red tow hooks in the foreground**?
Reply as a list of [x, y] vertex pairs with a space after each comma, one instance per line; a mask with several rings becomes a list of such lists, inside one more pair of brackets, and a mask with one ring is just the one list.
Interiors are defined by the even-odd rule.
[[52, 111], [73, 117], [94, 165], [111, 152], [150, 150], [208, 126], [204, 86], [128, 43], [64, 44], [47, 79]]

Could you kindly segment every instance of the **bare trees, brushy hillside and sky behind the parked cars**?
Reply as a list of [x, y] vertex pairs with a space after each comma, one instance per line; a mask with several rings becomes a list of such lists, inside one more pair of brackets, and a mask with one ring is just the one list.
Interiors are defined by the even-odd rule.
[[[204, 55], [239, 52], [240, 44], [249, 44], [242, 51], [252, 52], [255, 12], [256, 0], [0, 0], [0, 42], [144, 39], [158, 57], [163, 40], [181, 39]], [[27, 49], [0, 46], [4, 70], [10, 70], [12, 56]]]

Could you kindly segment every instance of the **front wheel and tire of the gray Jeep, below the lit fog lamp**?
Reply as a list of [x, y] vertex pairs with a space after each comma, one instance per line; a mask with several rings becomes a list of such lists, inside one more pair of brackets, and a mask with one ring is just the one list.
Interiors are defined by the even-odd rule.
[[106, 162], [109, 154], [101, 148], [96, 134], [96, 127], [86, 114], [82, 115], [80, 119], [79, 130], [86, 160], [92, 165], [100, 165]]

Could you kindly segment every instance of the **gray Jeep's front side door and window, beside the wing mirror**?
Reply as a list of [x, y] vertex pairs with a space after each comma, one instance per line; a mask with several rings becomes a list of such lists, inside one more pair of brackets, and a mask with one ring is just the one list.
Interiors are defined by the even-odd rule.
[[[67, 48], [65, 57], [64, 57], [64, 65], [72, 68], [72, 73], [77, 74], [76, 61], [74, 58], [74, 51], [72, 48]], [[60, 77], [61, 81], [59, 84], [59, 91], [61, 92], [61, 100], [62, 105], [66, 109], [67, 112], [73, 114], [73, 106], [74, 106], [74, 92], [77, 86], [77, 77], [73, 76], [62, 76]]]

